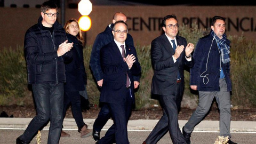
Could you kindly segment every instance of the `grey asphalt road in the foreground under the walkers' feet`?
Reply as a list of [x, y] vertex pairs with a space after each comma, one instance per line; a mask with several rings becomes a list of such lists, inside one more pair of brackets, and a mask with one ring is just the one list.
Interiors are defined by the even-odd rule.
[[[12, 144], [19, 135], [21, 135], [25, 129], [0, 129], [0, 143]], [[48, 130], [41, 131], [41, 144], [47, 143]], [[70, 138], [61, 138], [60, 144], [94, 144], [92, 137], [87, 137], [84, 139], [80, 138], [80, 133], [77, 130], [65, 130], [65, 132], [71, 135]], [[101, 137], [105, 135], [106, 130], [102, 130]], [[149, 135], [150, 131], [140, 131], [140, 130], [129, 130], [128, 137], [131, 144], [141, 144]], [[218, 138], [218, 132], [193, 132], [191, 134], [192, 144], [214, 144], [215, 140]], [[253, 144], [256, 143], [256, 132], [232, 132], [231, 133], [234, 142], [239, 144]], [[36, 137], [31, 141], [31, 143], [36, 143]], [[167, 144], [172, 143], [169, 133], [167, 133], [157, 144]]]

